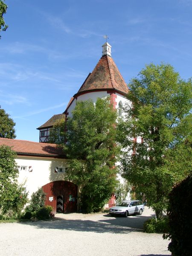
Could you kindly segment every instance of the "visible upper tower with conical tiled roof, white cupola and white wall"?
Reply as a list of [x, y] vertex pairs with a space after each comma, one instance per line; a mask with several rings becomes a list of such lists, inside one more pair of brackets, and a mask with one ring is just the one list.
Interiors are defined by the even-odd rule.
[[119, 108], [122, 114], [122, 105], [127, 102], [128, 86], [120, 74], [113, 58], [111, 57], [111, 45], [106, 42], [102, 45], [102, 57], [99, 59], [92, 73], [89, 73], [78, 92], [70, 99], [64, 114], [66, 118], [72, 116], [72, 110], [76, 101], [110, 96], [113, 108]]

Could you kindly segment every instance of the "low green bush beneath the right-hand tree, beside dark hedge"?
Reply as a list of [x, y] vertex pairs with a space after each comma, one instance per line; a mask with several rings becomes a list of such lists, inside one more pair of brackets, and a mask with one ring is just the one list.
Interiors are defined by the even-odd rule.
[[144, 222], [143, 231], [146, 233], [167, 233], [169, 231], [169, 221], [165, 216], [160, 219], [150, 218]]

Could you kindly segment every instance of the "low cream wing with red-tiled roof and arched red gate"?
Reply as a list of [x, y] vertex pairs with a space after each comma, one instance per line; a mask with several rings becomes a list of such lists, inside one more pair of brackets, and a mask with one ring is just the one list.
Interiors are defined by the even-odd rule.
[[10, 146], [17, 153], [18, 181], [26, 188], [29, 199], [42, 187], [46, 192], [45, 204], [51, 205], [54, 213], [77, 210], [78, 187], [64, 181], [67, 163], [61, 148], [55, 144], [4, 138], [0, 138], [0, 145]]

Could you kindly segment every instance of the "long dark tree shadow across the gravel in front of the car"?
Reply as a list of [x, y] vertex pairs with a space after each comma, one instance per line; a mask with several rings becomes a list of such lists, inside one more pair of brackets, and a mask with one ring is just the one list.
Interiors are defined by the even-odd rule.
[[143, 222], [151, 216], [129, 216], [128, 218], [117, 217], [110, 218], [109, 214], [100, 215], [102, 219], [80, 220], [80, 219], [65, 219], [54, 218], [50, 221], [33, 221], [24, 222], [23, 225], [31, 225], [41, 229], [58, 229], [58, 230], [74, 230], [83, 232], [96, 232], [96, 233], [130, 233], [142, 232]]

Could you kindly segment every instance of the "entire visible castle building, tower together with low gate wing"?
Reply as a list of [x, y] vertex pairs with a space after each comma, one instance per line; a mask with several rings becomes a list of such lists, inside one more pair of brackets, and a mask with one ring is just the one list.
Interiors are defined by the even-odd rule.
[[[29, 198], [42, 187], [47, 194], [46, 204], [53, 207], [54, 213], [77, 210], [78, 187], [65, 180], [66, 156], [57, 145], [49, 144], [50, 128], [58, 120], [67, 120], [71, 117], [77, 101], [87, 99], [92, 99], [95, 103], [97, 98], [109, 96], [113, 108], [118, 109], [119, 116], [123, 116], [123, 105], [131, 104], [128, 102], [127, 94], [128, 86], [111, 57], [111, 45], [106, 42], [102, 46], [102, 57], [70, 99], [64, 113], [52, 116], [37, 128], [40, 131], [39, 143], [0, 138], [0, 145], [9, 145], [17, 153], [19, 182], [25, 184]], [[118, 178], [123, 182], [120, 176]], [[113, 204], [114, 195], [106, 207], [112, 207]]]

